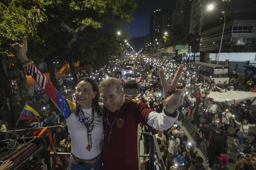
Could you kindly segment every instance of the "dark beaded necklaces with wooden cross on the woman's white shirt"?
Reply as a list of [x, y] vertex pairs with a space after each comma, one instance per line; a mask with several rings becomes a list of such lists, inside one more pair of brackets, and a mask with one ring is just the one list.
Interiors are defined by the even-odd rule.
[[[80, 107], [80, 106], [79, 106]], [[82, 119], [83, 119], [83, 122], [84, 122], [84, 125], [86, 127], [86, 131], [87, 131], [87, 139], [88, 139], [88, 146], [86, 147], [86, 149], [88, 151], [91, 151], [91, 148], [92, 148], [92, 141], [91, 141], [91, 134], [90, 132], [92, 131], [93, 127], [94, 127], [94, 105], [92, 104], [92, 119], [89, 121], [85, 118], [84, 116], [84, 112], [82, 110], [82, 108], [80, 107], [79, 108], [79, 113], [81, 114], [82, 116]], [[86, 122], [89, 122], [89, 123], [86, 123]], [[91, 128], [90, 128], [91, 127]], [[90, 140], [89, 140], [90, 138]]]

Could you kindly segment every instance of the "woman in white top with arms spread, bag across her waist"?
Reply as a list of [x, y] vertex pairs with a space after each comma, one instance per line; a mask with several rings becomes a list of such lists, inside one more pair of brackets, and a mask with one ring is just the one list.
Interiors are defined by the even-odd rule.
[[243, 154], [243, 144], [246, 141], [247, 135], [248, 135], [248, 131], [250, 127], [256, 127], [256, 124], [249, 124], [247, 119], [243, 119], [241, 122], [239, 123], [236, 121], [236, 119], [234, 119], [234, 117], [232, 117], [233, 120], [235, 121], [235, 123], [238, 125], [238, 127], [240, 127], [240, 130], [237, 133], [237, 139], [234, 139], [235, 145], [237, 145], [237, 143], [239, 143], [238, 145], [238, 152], [240, 154]]

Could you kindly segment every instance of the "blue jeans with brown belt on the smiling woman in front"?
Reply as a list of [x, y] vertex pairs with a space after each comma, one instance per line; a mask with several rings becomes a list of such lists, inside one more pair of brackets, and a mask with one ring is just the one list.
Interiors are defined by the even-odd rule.
[[101, 158], [95, 163], [85, 163], [84, 165], [79, 165], [80, 162], [76, 162], [72, 158], [72, 154], [69, 157], [69, 170], [101, 170]]

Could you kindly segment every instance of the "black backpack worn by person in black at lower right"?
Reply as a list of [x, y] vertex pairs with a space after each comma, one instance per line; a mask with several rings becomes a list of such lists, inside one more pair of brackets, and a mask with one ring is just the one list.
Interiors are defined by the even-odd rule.
[[214, 142], [214, 143], [218, 143], [218, 144], [224, 144], [225, 143], [225, 135], [224, 135], [224, 131], [219, 129], [219, 128], [215, 128], [215, 127], [211, 127], [210, 129], [210, 138], [208, 141], [208, 145], [210, 142]]

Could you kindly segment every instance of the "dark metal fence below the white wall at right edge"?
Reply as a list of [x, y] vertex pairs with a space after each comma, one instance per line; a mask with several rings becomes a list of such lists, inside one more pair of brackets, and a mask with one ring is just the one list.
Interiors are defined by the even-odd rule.
[[[217, 61], [211, 61], [212, 64], [217, 64]], [[219, 61], [219, 65], [225, 65], [225, 61]], [[243, 67], [244, 65], [252, 65], [256, 67], [256, 63], [249, 63], [249, 62], [228, 62], [228, 66], [231, 69], [235, 70], [241, 75], [245, 75], [246, 68]]]

